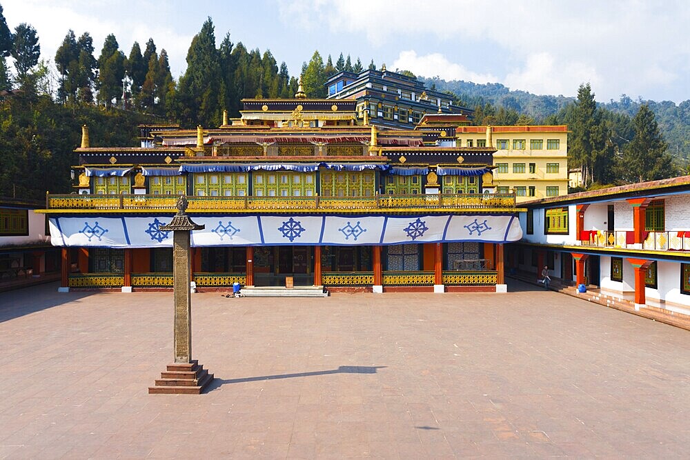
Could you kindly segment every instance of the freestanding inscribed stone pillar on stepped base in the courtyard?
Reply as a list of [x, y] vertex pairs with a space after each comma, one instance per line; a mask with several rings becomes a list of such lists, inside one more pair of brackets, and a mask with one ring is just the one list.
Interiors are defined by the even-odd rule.
[[[190, 289], [190, 232], [202, 230], [204, 226], [194, 223], [186, 214], [187, 198], [182, 195], [177, 201], [177, 214], [166, 226], [164, 232], [172, 232], [172, 286], [174, 319], [172, 326], [173, 354], [175, 363], [169, 364], [156, 386], [149, 387], [149, 393], [199, 394], [213, 380], [213, 374], [192, 360], [192, 293]], [[175, 374], [172, 374], [175, 372]]]

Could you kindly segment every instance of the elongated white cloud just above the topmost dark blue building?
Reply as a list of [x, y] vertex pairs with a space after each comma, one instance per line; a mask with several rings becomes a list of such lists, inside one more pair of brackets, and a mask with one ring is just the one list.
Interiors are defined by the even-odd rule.
[[395, 68], [409, 70], [415, 75], [428, 78], [438, 76], [444, 80], [464, 80], [475, 83], [492, 83], [497, 81], [497, 78], [491, 74], [478, 74], [467, 70], [460, 64], [452, 63], [443, 54], [438, 52], [417, 56], [415, 50], [402, 51], [397, 59], [393, 61], [393, 65], [388, 66], [388, 68], [391, 70]]

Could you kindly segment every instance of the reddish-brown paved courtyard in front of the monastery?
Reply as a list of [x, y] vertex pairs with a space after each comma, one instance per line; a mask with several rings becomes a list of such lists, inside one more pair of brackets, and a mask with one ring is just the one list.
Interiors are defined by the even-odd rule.
[[0, 458], [687, 457], [690, 332], [555, 292], [0, 294]]

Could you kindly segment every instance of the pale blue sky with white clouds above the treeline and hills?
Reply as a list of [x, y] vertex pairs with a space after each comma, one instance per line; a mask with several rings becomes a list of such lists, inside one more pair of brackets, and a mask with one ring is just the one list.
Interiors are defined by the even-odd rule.
[[217, 43], [270, 50], [290, 75], [318, 50], [364, 67], [502, 83], [533, 94], [575, 96], [589, 82], [600, 102], [690, 99], [689, 0], [0, 0], [10, 30], [36, 28], [41, 58], [69, 29], [89, 32], [98, 57], [107, 34], [129, 54], [151, 37], [173, 77], [208, 17]]

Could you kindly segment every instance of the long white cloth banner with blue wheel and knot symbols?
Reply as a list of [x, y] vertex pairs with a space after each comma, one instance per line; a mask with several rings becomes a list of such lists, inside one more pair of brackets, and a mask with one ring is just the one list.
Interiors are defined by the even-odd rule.
[[[172, 246], [172, 232], [161, 230], [171, 216], [51, 217], [55, 246], [160, 248]], [[508, 243], [522, 238], [513, 216], [195, 216], [206, 226], [191, 234], [195, 247], [209, 246], [364, 246], [480, 241]]]

